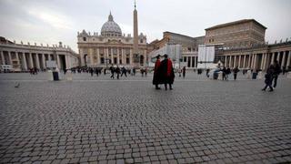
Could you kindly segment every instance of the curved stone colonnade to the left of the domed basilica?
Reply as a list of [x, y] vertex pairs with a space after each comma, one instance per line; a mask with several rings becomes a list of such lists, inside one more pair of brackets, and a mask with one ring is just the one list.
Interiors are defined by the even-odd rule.
[[46, 61], [55, 60], [59, 69], [68, 69], [79, 65], [79, 56], [70, 47], [59, 45], [40, 46], [26, 45], [21, 42], [16, 44], [5, 37], [0, 37], [0, 63], [1, 65], [12, 65], [15, 71], [26, 71], [36, 67], [45, 70]]

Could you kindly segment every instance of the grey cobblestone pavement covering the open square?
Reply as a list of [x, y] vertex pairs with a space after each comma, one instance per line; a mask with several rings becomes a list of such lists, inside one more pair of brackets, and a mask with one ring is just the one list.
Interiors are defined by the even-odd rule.
[[291, 162], [291, 79], [74, 79], [0, 74], [1, 163]]

